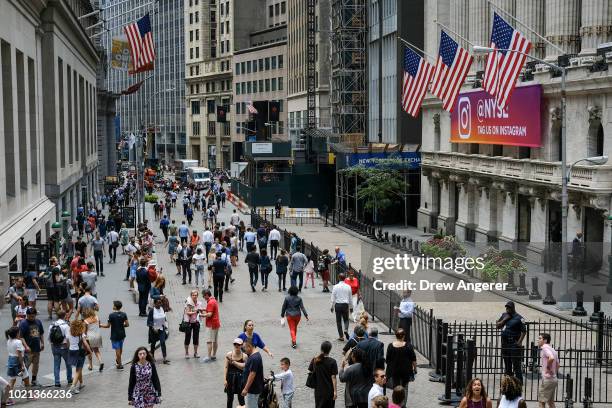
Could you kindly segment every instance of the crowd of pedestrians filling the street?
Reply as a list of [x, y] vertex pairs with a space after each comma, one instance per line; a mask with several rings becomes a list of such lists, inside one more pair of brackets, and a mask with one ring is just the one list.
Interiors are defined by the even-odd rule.
[[[25, 386], [38, 385], [41, 352], [48, 341], [53, 356], [54, 385], [62, 387], [60, 369], [63, 361], [68, 390], [72, 394], [80, 393], [84, 387], [85, 365], [88, 370], [93, 370], [95, 362], [100, 372], [105, 367], [100, 353], [104, 337], [101, 329], [110, 329], [115, 368], [124, 368], [123, 348], [130, 322], [119, 300], [113, 301], [112, 313], [106, 317], [99, 315], [100, 296], [96, 285], [98, 279], [105, 277], [105, 259], [108, 263], [116, 263], [117, 250], [121, 247], [120, 254], [126, 262], [124, 281], [137, 296], [139, 317], [143, 318], [138, 324], [148, 329], [148, 347], [137, 348], [131, 360], [128, 387], [131, 405], [152, 407], [161, 402], [156, 350], [161, 350], [162, 364], [171, 363], [166, 341], [170, 334], [167, 313], [172, 310], [172, 302], [164, 293], [170, 277], [158, 267], [158, 256], [162, 254], [176, 266], [175, 278], [191, 289], [182, 302], [182, 310], [178, 310], [176, 315], [182, 315], [179, 331], [184, 334], [185, 359], [199, 359], [202, 363], [217, 360], [220, 304], [231, 295], [236, 279], [233, 272], [240, 264], [247, 266], [248, 285], [253, 292], [272, 290], [274, 286], [269, 286], [269, 275], [272, 272], [277, 274], [277, 290], [286, 292], [280, 308], [281, 324], [288, 327], [288, 344], [294, 349], [298, 347], [300, 321], [310, 318], [301, 297], [302, 290], [315, 289], [315, 281], [320, 280], [321, 292], [330, 293], [337, 340], [343, 345], [341, 360], [336, 361], [330, 356], [332, 343], [324, 341], [320, 353], [309, 362], [307, 378], [294, 378], [288, 357], [280, 359], [280, 371], [267, 377], [260, 350], [269, 357], [274, 355], [263, 336], [255, 332], [255, 322], [246, 320], [231, 350], [220, 357], [224, 364], [228, 408], [233, 407], [235, 397], [238, 404], [248, 408], [259, 407], [262, 401], [269, 402], [275, 398], [270, 389], [274, 381], [280, 382], [278, 402], [282, 407], [292, 406], [298, 382], [305, 382], [313, 389], [317, 408], [335, 406], [339, 398], [338, 382], [345, 384], [344, 395], [340, 398], [344, 399], [346, 407], [408, 406], [409, 384], [417, 374], [417, 357], [411, 336], [414, 301], [410, 291], [403, 293], [396, 308], [399, 327], [395, 328], [395, 339], [387, 344], [385, 350], [384, 343], [378, 339], [377, 327], [369, 324], [369, 315], [363, 308], [359, 276], [347, 267], [346, 255], [340, 248], [336, 247], [333, 255], [324, 250], [315, 259], [303, 253], [295, 234], [287, 237], [288, 245], [285, 245], [285, 236], [274, 226], [265, 223], [256, 228], [249, 226], [236, 210], [232, 210], [229, 222], [224, 222], [219, 211], [226, 206], [228, 193], [222, 183], [213, 181], [207, 191], [187, 188], [182, 192], [172, 183], [165, 185], [165, 190], [160, 191], [162, 199], [154, 204], [154, 222], [159, 223], [163, 234], [162, 245], [157, 244], [156, 248], [155, 234], [147, 221], [138, 225], [135, 235], [127, 230], [120, 207], [133, 198], [134, 185], [128, 180], [102, 197], [101, 208], [79, 207], [75, 242], [73, 248], [64, 248], [64, 257], [52, 257], [48, 270], [42, 273], [35, 265], [30, 265], [24, 277], [13, 282], [7, 292], [14, 323], [6, 332], [8, 380], [0, 380], [6, 390], [13, 388], [17, 379], [21, 379]], [[183, 212], [176, 216], [179, 200]], [[202, 217], [203, 230], [192, 226], [198, 213]], [[336, 282], [333, 287], [332, 266]], [[43, 284], [50, 320], [46, 330], [36, 308], [37, 294]], [[506, 325], [511, 330], [517, 329], [513, 326], [516, 316], [512, 312], [510, 310], [507, 316], [502, 316], [501, 327]], [[206, 343], [204, 351], [199, 349], [202, 332]], [[547, 347], [549, 335], [542, 334], [541, 343], [543, 353], [546, 352], [543, 364], [548, 380], [542, 398], [548, 396], [544, 401], [548, 403], [551, 398], [554, 400], [556, 383], [553, 380], [558, 357], [550, 346]], [[512, 364], [513, 361], [509, 359], [509, 362]], [[525, 406], [520, 402], [520, 384], [521, 379], [512, 375], [504, 378], [500, 407]], [[11, 402], [3, 399], [3, 404]], [[482, 381], [472, 379], [461, 407], [490, 408], [491, 403]], [[554, 403], [549, 406], [553, 407]]]

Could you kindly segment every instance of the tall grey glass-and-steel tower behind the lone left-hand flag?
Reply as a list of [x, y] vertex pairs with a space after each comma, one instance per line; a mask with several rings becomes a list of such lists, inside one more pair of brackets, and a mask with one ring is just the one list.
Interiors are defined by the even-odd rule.
[[[201, 0], [202, 3], [205, 0]], [[106, 20], [100, 34], [105, 50], [111, 93], [121, 93], [139, 81], [145, 82], [131, 95], [117, 100], [121, 136], [148, 130], [148, 157], [172, 164], [175, 159], [187, 157], [185, 134], [185, 0], [157, 2], [100, 0], [101, 18]], [[123, 28], [149, 13], [155, 47], [155, 68], [152, 71], [129, 75], [126, 71], [110, 67], [112, 39], [124, 37]]]

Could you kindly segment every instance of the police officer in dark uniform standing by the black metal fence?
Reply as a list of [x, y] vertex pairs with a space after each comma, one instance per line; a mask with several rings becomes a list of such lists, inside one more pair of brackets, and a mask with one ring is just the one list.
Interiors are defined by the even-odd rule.
[[497, 328], [502, 329], [502, 359], [504, 360], [504, 373], [514, 375], [523, 383], [523, 339], [527, 333], [523, 316], [516, 313], [514, 302], [506, 303], [506, 312], [497, 321]]

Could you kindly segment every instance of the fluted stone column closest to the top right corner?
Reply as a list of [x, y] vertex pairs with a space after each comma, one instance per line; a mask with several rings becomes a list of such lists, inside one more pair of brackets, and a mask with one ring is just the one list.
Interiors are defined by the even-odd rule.
[[583, 55], [595, 55], [597, 45], [610, 41], [612, 7], [608, 0], [583, 0], [580, 24]]

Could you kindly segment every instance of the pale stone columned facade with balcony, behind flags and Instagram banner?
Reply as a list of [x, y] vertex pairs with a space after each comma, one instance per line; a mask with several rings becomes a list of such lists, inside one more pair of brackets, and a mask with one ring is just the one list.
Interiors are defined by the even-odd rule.
[[[533, 43], [532, 55], [557, 63], [569, 55], [567, 74], [567, 163], [586, 157], [612, 155], [612, 75], [609, 58], [598, 64], [598, 45], [609, 42], [612, 25], [609, 1], [506, 1], [504, 9], [518, 21], [548, 38], [555, 46], [517, 27]], [[437, 55], [439, 31], [435, 20], [448, 25], [475, 44], [488, 45], [492, 11], [483, 1], [427, 1], [425, 51]], [[464, 44], [464, 47], [466, 45]], [[559, 50], [561, 49], [561, 50]], [[473, 65], [460, 98], [481, 90], [478, 82], [484, 59]], [[501, 115], [509, 120], [536, 115], [535, 146], [505, 143], [455, 143], [455, 133], [468, 132], [468, 124], [455, 129], [449, 113], [429, 95], [423, 106], [422, 195], [419, 227], [456, 234], [460, 240], [512, 248], [536, 263], [560, 243], [561, 222], [561, 78], [544, 65], [528, 64], [512, 98], [517, 104], [521, 88], [541, 87], [540, 112], [518, 117], [511, 108]], [[474, 109], [473, 106], [459, 106]], [[479, 110], [480, 112], [480, 110]], [[478, 121], [487, 113], [478, 113]], [[516, 110], [514, 111], [516, 112]], [[474, 128], [477, 124], [472, 124]], [[463, 129], [466, 127], [466, 129]], [[468, 136], [466, 140], [469, 142]], [[584, 233], [587, 273], [606, 271], [610, 230], [612, 165], [576, 165], [569, 180], [568, 239]]]

